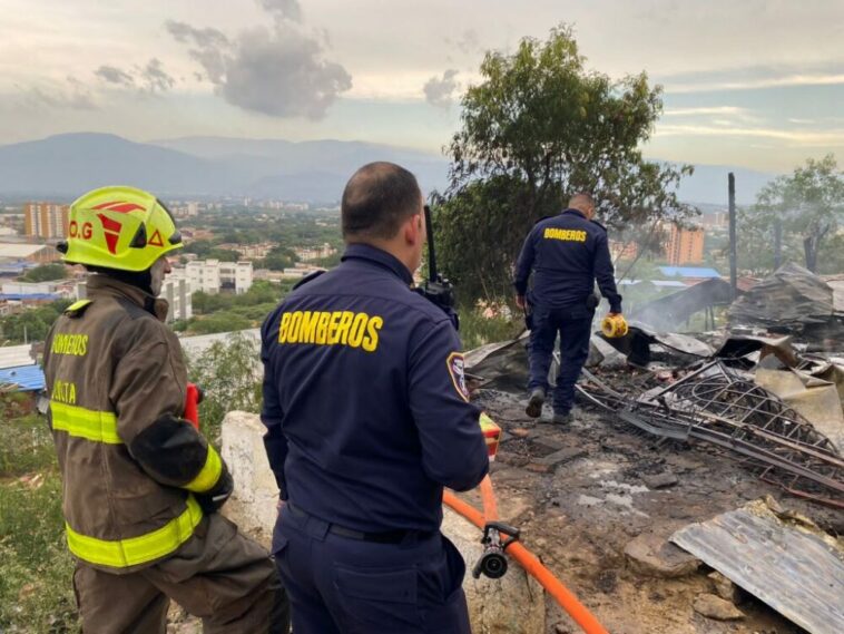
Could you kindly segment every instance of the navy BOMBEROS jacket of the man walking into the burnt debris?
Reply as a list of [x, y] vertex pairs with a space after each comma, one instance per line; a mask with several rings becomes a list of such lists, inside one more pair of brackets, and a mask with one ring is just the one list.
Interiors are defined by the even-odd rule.
[[597, 279], [610, 312], [621, 312], [607, 232], [577, 209], [541, 220], [528, 234], [516, 265], [514, 286], [519, 295], [528, 290], [531, 269], [536, 273], [528, 299], [533, 305], [582, 306]]

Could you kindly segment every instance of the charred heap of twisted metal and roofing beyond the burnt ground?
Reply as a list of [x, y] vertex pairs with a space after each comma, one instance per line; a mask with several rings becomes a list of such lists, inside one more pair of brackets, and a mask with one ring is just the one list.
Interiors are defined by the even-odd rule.
[[[699, 303], [694, 286], [685, 292]], [[728, 328], [707, 333], [634, 322], [625, 338], [596, 334], [580, 407], [667, 449], [715, 447], [791, 495], [844, 509], [844, 281], [786, 265], [728, 314]], [[527, 341], [469, 353], [475, 387], [523, 393]]]

